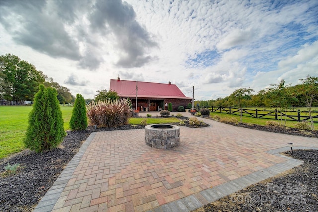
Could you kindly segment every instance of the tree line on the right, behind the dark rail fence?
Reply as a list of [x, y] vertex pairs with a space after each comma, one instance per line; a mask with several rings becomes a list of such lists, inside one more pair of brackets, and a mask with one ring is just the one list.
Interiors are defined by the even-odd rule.
[[[301, 84], [291, 86], [281, 80], [279, 84], [271, 84], [269, 88], [252, 94], [253, 89], [241, 88], [224, 98], [195, 101], [200, 107], [318, 107], [318, 77], [307, 76]], [[244, 94], [244, 95], [243, 95]], [[245, 95], [246, 94], [246, 95]], [[241, 98], [238, 96], [241, 95]], [[239, 101], [238, 101], [239, 99]]]

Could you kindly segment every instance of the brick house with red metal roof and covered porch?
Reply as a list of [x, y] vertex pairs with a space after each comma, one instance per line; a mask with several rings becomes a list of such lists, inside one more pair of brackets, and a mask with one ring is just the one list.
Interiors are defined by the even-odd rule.
[[177, 111], [179, 106], [191, 103], [192, 98], [186, 97], [182, 91], [171, 82], [167, 84], [153, 82], [139, 82], [116, 79], [110, 80], [110, 89], [116, 91], [120, 98], [129, 98], [133, 108], [136, 107], [137, 87], [137, 110], [159, 111], [167, 110], [168, 103], [172, 103], [172, 111]]

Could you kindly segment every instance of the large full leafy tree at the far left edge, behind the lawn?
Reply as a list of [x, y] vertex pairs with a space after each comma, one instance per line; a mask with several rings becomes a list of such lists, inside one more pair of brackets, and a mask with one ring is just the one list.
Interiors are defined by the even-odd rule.
[[11, 54], [0, 56], [0, 93], [14, 103], [33, 100], [39, 84], [44, 82], [43, 74], [35, 66]]

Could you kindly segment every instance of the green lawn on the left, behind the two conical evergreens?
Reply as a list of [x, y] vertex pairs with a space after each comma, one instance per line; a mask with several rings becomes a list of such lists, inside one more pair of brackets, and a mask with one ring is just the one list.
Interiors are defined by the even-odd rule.
[[[64, 129], [68, 130], [73, 107], [61, 107]], [[0, 159], [22, 151], [32, 106], [0, 106]]]

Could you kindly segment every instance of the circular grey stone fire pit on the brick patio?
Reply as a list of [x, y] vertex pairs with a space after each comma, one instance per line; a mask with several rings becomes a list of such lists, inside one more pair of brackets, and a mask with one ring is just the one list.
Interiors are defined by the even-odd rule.
[[145, 127], [145, 142], [153, 148], [167, 149], [179, 145], [180, 128], [169, 124], [152, 124]]

